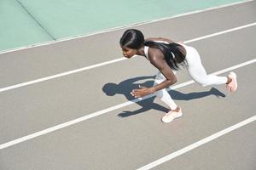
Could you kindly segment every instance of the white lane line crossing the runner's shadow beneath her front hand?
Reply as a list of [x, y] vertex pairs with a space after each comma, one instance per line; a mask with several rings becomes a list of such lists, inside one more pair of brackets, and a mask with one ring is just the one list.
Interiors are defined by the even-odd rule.
[[[227, 71], [232, 71], [234, 69], [240, 68], [242, 66], [250, 65], [250, 64], [253, 64], [255, 62], [256, 62], [256, 59], [252, 59], [252, 60], [249, 60], [247, 62], [241, 63], [239, 65], [234, 65], [234, 66], [231, 66], [231, 67], [229, 67], [227, 69], [224, 69], [224, 70], [221, 70], [221, 71], [217, 71], [217, 72], [213, 72], [212, 74], [217, 75], [217, 74], [221, 74], [221, 73], [224, 73], [224, 72], [227, 72]], [[193, 80], [191, 80], [189, 82], [183, 82], [181, 84], [173, 86], [171, 89], [183, 88], [185, 86], [189, 86], [192, 83], [194, 83]], [[171, 89], [169, 89], [169, 90], [171, 90]], [[24, 136], [22, 138], [15, 139], [15, 140], [9, 141], [9, 142], [4, 143], [4, 144], [0, 144], [0, 150], [2, 150], [4, 148], [8, 148], [8, 147], [10, 147], [12, 145], [15, 145], [15, 144], [19, 144], [21, 142], [25, 142], [26, 140], [34, 139], [34, 138], [42, 136], [44, 134], [54, 132], [54, 131], [59, 130], [61, 128], [69, 127], [69, 126], [71, 126], [73, 124], [86, 121], [86, 120], [94, 118], [96, 116], [101, 116], [101, 115], [106, 114], [106, 113], [108, 113], [110, 111], [118, 110], [118, 109], [123, 108], [123, 107], [125, 107], [127, 105], [132, 105], [134, 103], [137, 103], [138, 101], [141, 101], [143, 99], [148, 99], [148, 98], [151, 98], [151, 97], [154, 97], [154, 96], [155, 96], [155, 94], [150, 94], [150, 95], [147, 95], [147, 96], [143, 97], [142, 99], [133, 99], [133, 100], [127, 101], [127, 102], [125, 102], [123, 104], [114, 105], [112, 107], [109, 107], [108, 109], [105, 109], [105, 110], [102, 110], [102, 111], [96, 111], [94, 113], [90, 113], [89, 115], [79, 117], [77, 119], [74, 119], [73, 121], [64, 122], [64, 123], [61, 123], [59, 125], [56, 125], [55, 127], [49, 127], [47, 129], [44, 129], [44, 130], [39, 131], [37, 133], [32, 133], [32, 134], [29, 134], [29, 135]]]

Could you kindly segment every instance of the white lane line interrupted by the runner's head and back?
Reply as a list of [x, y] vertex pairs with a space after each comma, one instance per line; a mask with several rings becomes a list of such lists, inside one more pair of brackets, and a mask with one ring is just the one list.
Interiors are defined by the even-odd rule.
[[[231, 32], [231, 31], [241, 30], [241, 29], [244, 29], [244, 28], [247, 28], [247, 27], [250, 27], [250, 26], [255, 26], [255, 25], [256, 25], [256, 22], [251, 23], [251, 24], [247, 24], [245, 26], [238, 26], [236, 28], [232, 28], [232, 29], [225, 30], [225, 31], [218, 31], [216, 33], [209, 34], [207, 36], [197, 37], [197, 38], [194, 38], [194, 39], [191, 39], [191, 40], [184, 41], [184, 43], [200, 41], [200, 40], [203, 40], [203, 39], [207, 39], [209, 37], [215, 37], [215, 36], [222, 35], [222, 34], [225, 34], [225, 33]], [[44, 77], [44, 78], [39, 78], [39, 79], [32, 80], [32, 81], [29, 81], [29, 82], [22, 82], [22, 83], [15, 84], [15, 85], [12, 85], [12, 86], [9, 86], [9, 87], [6, 87], [6, 88], [0, 88], [0, 93], [4, 92], [4, 91], [11, 90], [11, 89], [28, 86], [28, 85], [31, 85], [31, 84], [34, 84], [34, 83], [44, 82], [44, 81], [48, 81], [48, 80], [58, 78], [58, 77], [64, 77], [64, 76], [71, 75], [71, 74], [74, 74], [74, 73], [77, 73], [77, 72], [80, 72], [80, 71], [90, 70], [90, 69], [100, 67], [100, 66], [103, 66], [103, 65], [109, 65], [109, 64], [112, 64], [112, 63], [115, 63], [115, 62], [119, 62], [121, 60], [125, 60], [125, 58], [113, 59], [113, 60], [110, 60], [110, 61], [107, 61], [107, 62], [103, 62], [103, 63], [96, 64], [96, 65], [86, 66], [86, 67], [76, 69], [76, 70], [73, 70], [73, 71], [62, 72], [60, 74], [56, 74], [56, 75], [49, 76], [49, 77]]]

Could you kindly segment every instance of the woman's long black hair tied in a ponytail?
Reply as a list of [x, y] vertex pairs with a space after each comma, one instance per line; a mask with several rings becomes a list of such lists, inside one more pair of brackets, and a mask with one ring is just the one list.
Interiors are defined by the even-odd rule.
[[[164, 42], [154, 42], [144, 40], [143, 33], [136, 29], [126, 30], [123, 36], [120, 38], [120, 45], [126, 48], [138, 49], [143, 47], [143, 45], [149, 48], [158, 48], [164, 54], [167, 65], [169, 65], [173, 70], [178, 70], [180, 65], [187, 65], [186, 56], [180, 51], [178, 47], [180, 44], [175, 42], [164, 43]], [[174, 54], [174, 56], [172, 55]]]

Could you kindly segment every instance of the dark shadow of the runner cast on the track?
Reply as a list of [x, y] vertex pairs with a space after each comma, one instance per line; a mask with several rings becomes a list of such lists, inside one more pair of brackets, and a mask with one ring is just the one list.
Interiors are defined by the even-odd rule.
[[[131, 91], [133, 89], [139, 88], [139, 85], [144, 87], [152, 87], [154, 85], [154, 77], [155, 76], [133, 77], [123, 82], [119, 82], [119, 84], [108, 82], [102, 87], [102, 91], [108, 96], [113, 96], [115, 94], [125, 95], [125, 98], [131, 101], [135, 99], [131, 95]], [[145, 81], [145, 82], [139, 83], [138, 81]], [[205, 92], [194, 92], [189, 94], [183, 94], [176, 90], [171, 90], [169, 91], [169, 94], [171, 94], [172, 99], [174, 100], [200, 99], [209, 95], [215, 95], [216, 97], [225, 97], [225, 94], [218, 91], [217, 88], [211, 88], [209, 91], [205, 91]], [[138, 101], [137, 105], [141, 106], [140, 109], [138, 109], [137, 111], [123, 111], [122, 113], [119, 113], [118, 116], [120, 117], [133, 116], [133, 115], [137, 115], [139, 113], [143, 113], [152, 109], [156, 111], [164, 111], [164, 112], [167, 112], [169, 110], [162, 105], [154, 103], [154, 98], [155, 96], [152, 98]]]

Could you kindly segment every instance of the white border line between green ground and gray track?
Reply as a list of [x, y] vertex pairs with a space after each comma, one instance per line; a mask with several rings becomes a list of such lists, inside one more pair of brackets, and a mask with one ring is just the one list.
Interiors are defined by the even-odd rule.
[[143, 22], [140, 22], [140, 23], [133, 23], [133, 24], [130, 24], [130, 25], [127, 25], [127, 26], [117, 26], [117, 27], [113, 27], [113, 28], [110, 28], [110, 29], [104, 29], [102, 31], [95, 31], [95, 32], [88, 33], [88, 34], [85, 34], [85, 35], [78, 35], [78, 36], [74, 36], [74, 37], [60, 38], [56, 41], [39, 42], [39, 43], [35, 43], [35, 44], [28, 45], [28, 46], [25, 46], [25, 47], [3, 50], [3, 51], [0, 51], [0, 54], [6, 54], [6, 53], [15, 52], [15, 51], [20, 51], [20, 50], [27, 49], [27, 48], [37, 48], [37, 47], [41, 47], [41, 46], [47, 46], [47, 45], [50, 45], [50, 44], [53, 44], [53, 43], [66, 42], [66, 41], [69, 41], [69, 40], [79, 39], [79, 38], [83, 38], [83, 37], [90, 37], [90, 36], [94, 36], [94, 35], [97, 35], [97, 34], [107, 33], [107, 32], [111, 32], [111, 31], [118, 31], [118, 30], [121, 30], [121, 29], [127, 29], [127, 28], [130, 28], [132, 26], [143, 26], [143, 25], [154, 23], [154, 22], [159, 22], [159, 21], [163, 21], [163, 20], [171, 20], [173, 18], [187, 16], [187, 15], [190, 15], [190, 14], [204, 13], [204, 12], [207, 12], [207, 11], [210, 11], [210, 10], [215, 10], [215, 9], [218, 9], [218, 8], [226, 8], [226, 7], [239, 5], [239, 4], [242, 4], [242, 3], [250, 3], [252, 1], [254, 1], [254, 0], [244, 0], [244, 1], [241, 1], [241, 2], [220, 5], [218, 7], [205, 8], [205, 9], [196, 10], [196, 11], [192, 11], [192, 12], [188, 12], [188, 13], [176, 14], [176, 15], [173, 15], [171, 17], [164, 17], [164, 18], [157, 19], [157, 20], [148, 20], [148, 21], [143, 21]]

